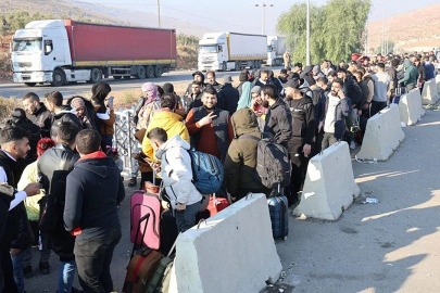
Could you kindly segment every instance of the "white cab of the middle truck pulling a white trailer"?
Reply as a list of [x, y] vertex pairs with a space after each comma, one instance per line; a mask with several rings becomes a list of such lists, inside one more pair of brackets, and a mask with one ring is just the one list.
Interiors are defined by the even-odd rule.
[[227, 34], [204, 34], [199, 41], [199, 71], [226, 71], [228, 60]]

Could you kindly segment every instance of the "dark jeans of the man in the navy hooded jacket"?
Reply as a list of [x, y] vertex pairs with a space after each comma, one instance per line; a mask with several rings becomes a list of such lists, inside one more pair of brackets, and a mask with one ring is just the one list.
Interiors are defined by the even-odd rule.
[[78, 266], [79, 283], [85, 293], [112, 292], [113, 280], [110, 275], [113, 251], [121, 240], [121, 226], [103, 234], [75, 241], [75, 260]]

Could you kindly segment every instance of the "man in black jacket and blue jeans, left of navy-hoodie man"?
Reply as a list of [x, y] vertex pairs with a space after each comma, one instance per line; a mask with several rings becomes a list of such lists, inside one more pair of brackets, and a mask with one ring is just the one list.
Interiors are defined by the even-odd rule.
[[79, 128], [72, 123], [62, 123], [58, 129], [56, 145], [46, 151], [38, 161], [46, 196], [43, 206], [46, 215], [54, 218], [40, 220], [41, 230], [49, 233], [52, 250], [60, 257], [60, 278], [58, 292], [75, 292], [72, 282], [75, 277], [75, 255], [73, 249], [75, 237], [64, 229], [63, 211], [67, 175], [73, 170], [79, 156], [74, 153], [75, 138]]

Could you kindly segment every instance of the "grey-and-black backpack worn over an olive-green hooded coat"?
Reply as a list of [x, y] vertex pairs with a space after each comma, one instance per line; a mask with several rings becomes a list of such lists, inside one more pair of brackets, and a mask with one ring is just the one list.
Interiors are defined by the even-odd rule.
[[290, 184], [291, 164], [289, 152], [271, 138], [259, 139], [254, 136], [242, 135], [239, 137], [257, 141], [256, 146], [256, 174], [254, 179], [266, 188], [285, 188]]

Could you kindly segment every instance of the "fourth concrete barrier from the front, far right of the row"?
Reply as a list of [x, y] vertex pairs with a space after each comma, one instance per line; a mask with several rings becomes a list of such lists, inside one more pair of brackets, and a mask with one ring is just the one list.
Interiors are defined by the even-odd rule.
[[425, 115], [425, 110], [422, 105], [422, 95], [418, 89], [403, 94], [399, 101], [400, 120], [405, 125], [415, 125], [422, 116]]

